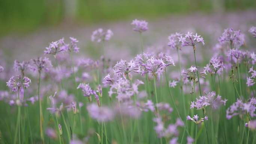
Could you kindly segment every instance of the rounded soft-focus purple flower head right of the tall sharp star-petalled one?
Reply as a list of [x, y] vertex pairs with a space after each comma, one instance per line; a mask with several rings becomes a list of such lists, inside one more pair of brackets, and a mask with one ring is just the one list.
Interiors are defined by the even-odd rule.
[[241, 46], [244, 44], [244, 35], [240, 30], [235, 31], [233, 28], [227, 28], [224, 30], [224, 33], [222, 33], [222, 36], [220, 36], [219, 42], [222, 44], [228, 42]]

